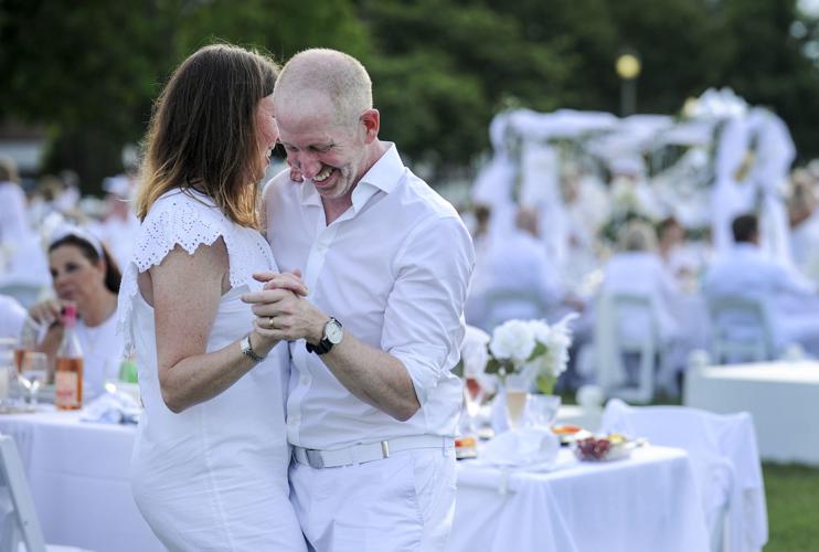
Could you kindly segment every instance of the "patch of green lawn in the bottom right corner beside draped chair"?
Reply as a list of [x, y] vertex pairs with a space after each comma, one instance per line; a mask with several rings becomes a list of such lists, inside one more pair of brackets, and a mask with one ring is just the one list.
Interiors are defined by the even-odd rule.
[[768, 505], [765, 552], [819, 550], [819, 468], [764, 464]]

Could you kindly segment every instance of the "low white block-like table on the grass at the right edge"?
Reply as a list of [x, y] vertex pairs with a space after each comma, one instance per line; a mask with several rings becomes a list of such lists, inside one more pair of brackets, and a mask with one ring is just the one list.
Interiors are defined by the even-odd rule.
[[819, 466], [819, 362], [692, 370], [684, 402], [721, 414], [748, 412], [763, 459]]

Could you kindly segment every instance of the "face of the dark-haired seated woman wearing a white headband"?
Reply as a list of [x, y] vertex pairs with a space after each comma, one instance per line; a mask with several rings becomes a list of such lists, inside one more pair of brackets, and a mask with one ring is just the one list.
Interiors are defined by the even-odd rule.
[[57, 297], [75, 301], [81, 312], [105, 293], [105, 263], [92, 263], [75, 245], [61, 245], [49, 253], [49, 268]]

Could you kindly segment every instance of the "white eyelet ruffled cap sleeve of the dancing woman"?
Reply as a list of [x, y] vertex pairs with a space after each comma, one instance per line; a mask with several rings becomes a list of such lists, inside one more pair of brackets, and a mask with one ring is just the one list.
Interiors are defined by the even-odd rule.
[[227, 248], [232, 287], [255, 288], [258, 284], [252, 278], [254, 272], [276, 269], [262, 235], [232, 223], [206, 197], [172, 191], [151, 206], [119, 287], [118, 331], [124, 336], [126, 350], [132, 351], [134, 346], [131, 315], [139, 293], [139, 274], [160, 264], [177, 245], [193, 254], [200, 245], [212, 245], [219, 237]]

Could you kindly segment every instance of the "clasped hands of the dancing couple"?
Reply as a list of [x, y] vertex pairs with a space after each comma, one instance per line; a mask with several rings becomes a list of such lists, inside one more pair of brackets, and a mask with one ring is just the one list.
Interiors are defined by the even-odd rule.
[[321, 340], [329, 317], [306, 299], [308, 290], [300, 272], [256, 273], [253, 277], [263, 282], [264, 288], [243, 295], [242, 300], [253, 305], [259, 335], [277, 341], [304, 338], [313, 344]]

